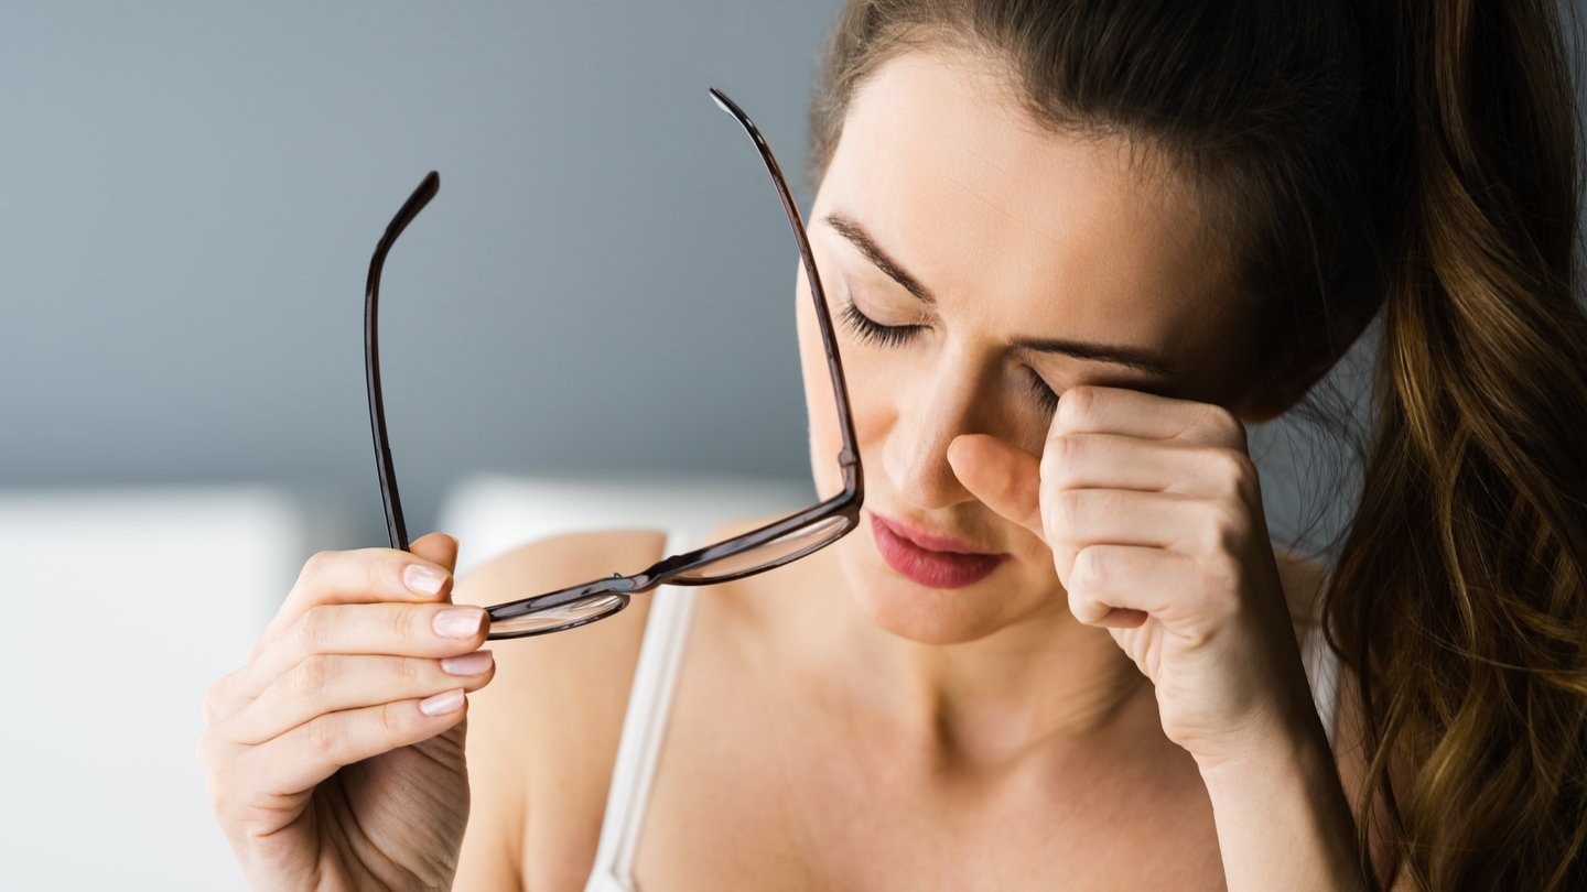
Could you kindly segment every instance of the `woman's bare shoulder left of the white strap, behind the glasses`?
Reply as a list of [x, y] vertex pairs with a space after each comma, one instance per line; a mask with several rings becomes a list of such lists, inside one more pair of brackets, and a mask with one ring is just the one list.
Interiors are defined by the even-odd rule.
[[[643, 570], [655, 530], [543, 540], [467, 575], [455, 600], [492, 605]], [[473, 802], [459, 889], [579, 889], [600, 836], [649, 598], [568, 632], [495, 641], [497, 675], [471, 695]]]

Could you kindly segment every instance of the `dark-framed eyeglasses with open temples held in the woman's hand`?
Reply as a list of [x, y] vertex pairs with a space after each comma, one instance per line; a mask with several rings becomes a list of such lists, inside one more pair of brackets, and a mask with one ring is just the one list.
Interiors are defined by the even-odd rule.
[[[754, 141], [755, 149], [767, 167], [767, 173], [771, 176], [771, 183], [778, 190], [778, 198], [782, 202], [782, 211], [787, 216], [789, 225], [794, 229], [794, 238], [798, 241], [800, 262], [805, 268], [805, 276], [809, 281], [811, 298], [816, 303], [816, 324], [820, 330], [822, 348], [827, 356], [827, 371], [832, 378], [833, 398], [836, 402], [838, 430], [843, 438], [843, 448], [838, 452], [838, 467], [843, 473], [843, 492], [803, 511], [787, 514], [779, 521], [760, 525], [746, 533], [735, 535], [700, 549], [663, 557], [638, 573], [613, 573], [611, 576], [601, 579], [592, 579], [589, 582], [581, 582], [554, 592], [489, 606], [486, 608], [486, 613], [490, 616], [492, 624], [495, 624], [498, 621], [508, 621], [525, 614], [552, 611], [581, 600], [601, 597], [616, 598], [614, 608], [595, 616], [579, 617], [565, 624], [548, 625], [544, 629], [490, 632], [487, 635], [489, 640], [527, 638], [587, 625], [621, 613], [628, 606], [632, 595], [646, 592], [662, 584], [711, 586], [754, 576], [820, 551], [859, 527], [860, 506], [865, 502], [865, 476], [860, 468], [859, 448], [855, 446], [857, 436], [854, 433], [854, 414], [849, 406], [849, 392], [843, 375], [843, 362], [838, 356], [832, 311], [827, 306], [825, 289], [820, 284], [820, 273], [816, 268], [816, 256], [809, 246], [809, 236], [805, 233], [805, 221], [798, 213], [798, 206], [794, 203], [792, 194], [789, 192], [787, 181], [782, 176], [782, 168], [771, 154], [771, 146], [767, 144], [760, 129], [755, 127], [749, 116], [744, 114], [744, 111], [722, 90], [711, 87], [709, 92], [717, 106], [732, 114], [733, 119], [738, 121], [740, 127], [743, 127]], [[419, 216], [419, 211], [422, 211], [425, 205], [435, 198], [440, 187], [441, 178], [432, 170], [424, 176], [408, 200], [403, 202], [402, 208], [398, 208], [392, 221], [386, 225], [386, 233], [381, 236], [375, 248], [375, 256], [370, 259], [370, 273], [363, 294], [363, 354], [365, 384], [370, 402], [370, 429], [375, 436], [375, 462], [381, 484], [381, 503], [386, 511], [387, 538], [390, 540], [390, 546], [398, 551], [409, 551], [409, 541], [408, 529], [403, 521], [402, 498], [397, 490], [397, 473], [392, 465], [390, 443], [386, 433], [386, 402], [381, 392], [379, 341], [376, 336], [379, 317], [379, 284], [386, 256], [390, 252], [392, 244], [395, 244], [397, 236], [400, 236], [408, 224]], [[768, 563], [711, 578], [686, 576], [686, 573], [692, 570], [727, 560], [789, 536], [798, 530], [814, 529], [817, 524], [840, 517], [844, 521], [844, 527], [832, 538], [790, 552]]]

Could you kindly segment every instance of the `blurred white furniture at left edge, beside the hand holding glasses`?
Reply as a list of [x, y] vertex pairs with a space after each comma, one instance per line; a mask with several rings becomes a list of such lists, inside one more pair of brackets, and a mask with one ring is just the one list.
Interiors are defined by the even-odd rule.
[[265, 489], [0, 492], [0, 889], [241, 889], [194, 748], [327, 513]]

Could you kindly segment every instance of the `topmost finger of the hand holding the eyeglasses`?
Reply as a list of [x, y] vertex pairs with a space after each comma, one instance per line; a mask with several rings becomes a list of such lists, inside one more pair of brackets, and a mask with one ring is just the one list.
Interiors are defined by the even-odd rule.
[[457, 540], [430, 533], [414, 540], [409, 548], [411, 551], [322, 551], [309, 557], [276, 617], [254, 643], [252, 657], [267, 651], [305, 613], [321, 605], [449, 602]]

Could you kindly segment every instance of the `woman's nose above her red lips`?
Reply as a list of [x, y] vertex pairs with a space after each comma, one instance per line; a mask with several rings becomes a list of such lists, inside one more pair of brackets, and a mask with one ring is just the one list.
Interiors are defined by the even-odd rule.
[[898, 389], [882, 470], [900, 500], [924, 511], [974, 500], [947, 465], [947, 444], [962, 433], [989, 433], [982, 376], [965, 362], [944, 362]]

